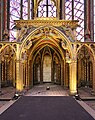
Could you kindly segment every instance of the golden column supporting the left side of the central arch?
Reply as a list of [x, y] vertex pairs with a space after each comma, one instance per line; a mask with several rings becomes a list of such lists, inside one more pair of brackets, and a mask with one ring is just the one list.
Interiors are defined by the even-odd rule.
[[20, 61], [19, 54], [20, 54], [20, 45], [17, 44], [17, 51], [16, 51], [16, 89], [17, 91], [23, 90], [23, 79], [22, 79], [22, 68], [23, 65]]

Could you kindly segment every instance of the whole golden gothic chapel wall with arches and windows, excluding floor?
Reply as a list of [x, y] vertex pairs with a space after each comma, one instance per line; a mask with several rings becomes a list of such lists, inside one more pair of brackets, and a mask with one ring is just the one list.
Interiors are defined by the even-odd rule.
[[[90, 4], [89, 4], [90, 3]], [[95, 91], [93, 0], [1, 0], [0, 89], [42, 83]]]

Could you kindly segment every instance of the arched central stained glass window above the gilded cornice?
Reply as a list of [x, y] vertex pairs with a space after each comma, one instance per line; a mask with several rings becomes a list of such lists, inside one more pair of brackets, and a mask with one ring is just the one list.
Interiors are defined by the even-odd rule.
[[38, 17], [56, 17], [56, 6], [52, 0], [42, 0], [39, 3]]

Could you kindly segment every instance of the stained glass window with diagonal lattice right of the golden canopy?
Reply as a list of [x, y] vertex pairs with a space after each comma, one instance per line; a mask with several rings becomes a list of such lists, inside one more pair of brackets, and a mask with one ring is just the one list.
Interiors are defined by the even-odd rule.
[[[66, 20], [72, 19], [72, 0], [65, 2]], [[77, 40], [84, 41], [84, 0], [74, 0], [74, 20], [79, 20]]]

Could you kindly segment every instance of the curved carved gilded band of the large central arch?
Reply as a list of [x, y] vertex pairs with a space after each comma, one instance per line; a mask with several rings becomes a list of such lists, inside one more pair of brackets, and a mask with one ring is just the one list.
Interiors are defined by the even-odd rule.
[[[22, 41], [20, 53], [22, 53], [25, 50], [29, 50], [31, 47], [33, 48], [34, 43], [36, 47], [38, 47], [39, 45], [41, 45], [39, 44], [40, 42], [45, 42], [45, 41], [50, 41], [51, 43], [55, 44], [58, 49], [61, 48], [68, 50], [70, 52], [70, 55], [72, 56], [73, 53], [71, 48], [71, 41], [59, 29], [52, 26], [43, 26], [32, 31]], [[34, 48], [36, 49], [36, 47]]]

